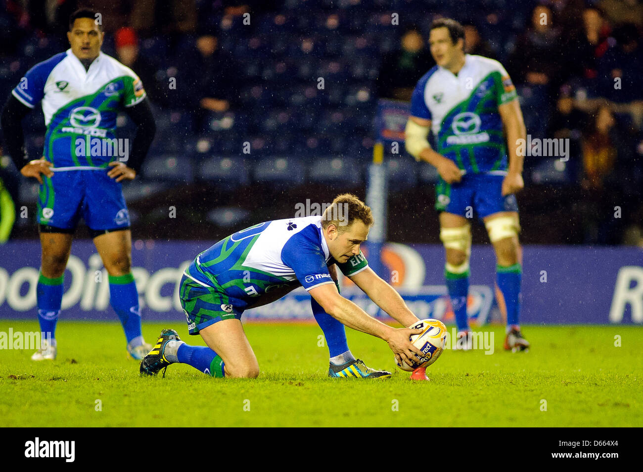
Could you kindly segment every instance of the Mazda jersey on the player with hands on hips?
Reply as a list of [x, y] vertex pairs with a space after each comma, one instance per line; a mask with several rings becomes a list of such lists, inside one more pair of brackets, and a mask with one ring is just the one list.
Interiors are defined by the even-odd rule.
[[113, 142], [117, 113], [145, 99], [143, 84], [130, 68], [101, 52], [85, 70], [71, 49], [33, 66], [12, 93], [29, 108], [42, 102], [43, 156], [54, 170], [107, 167], [116, 153], [104, 152], [110, 146], [102, 143]]

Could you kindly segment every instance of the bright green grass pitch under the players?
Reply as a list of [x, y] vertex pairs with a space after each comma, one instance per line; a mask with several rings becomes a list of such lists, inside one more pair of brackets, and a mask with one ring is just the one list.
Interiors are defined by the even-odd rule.
[[[39, 329], [0, 321], [0, 332], [10, 327]], [[163, 327], [203, 345], [180, 321], [145, 323], [147, 341]], [[643, 426], [640, 327], [524, 326], [533, 347], [517, 354], [502, 350], [503, 326], [484, 329], [494, 354], [446, 350], [430, 382], [410, 381], [386, 343], [353, 330], [356, 357], [394, 375], [329, 379], [320, 328], [281, 324], [246, 325], [258, 379], [212, 379], [182, 364], [163, 379], [139, 377], [118, 322], [62, 320], [56, 361], [0, 350], [0, 426]]]

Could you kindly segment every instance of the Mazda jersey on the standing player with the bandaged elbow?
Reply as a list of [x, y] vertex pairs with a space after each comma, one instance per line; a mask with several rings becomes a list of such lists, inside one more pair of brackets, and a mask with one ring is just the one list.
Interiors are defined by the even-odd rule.
[[433, 67], [417, 82], [411, 115], [431, 120], [437, 151], [467, 173], [506, 171], [507, 147], [498, 106], [516, 99], [502, 64], [465, 55], [458, 75]]

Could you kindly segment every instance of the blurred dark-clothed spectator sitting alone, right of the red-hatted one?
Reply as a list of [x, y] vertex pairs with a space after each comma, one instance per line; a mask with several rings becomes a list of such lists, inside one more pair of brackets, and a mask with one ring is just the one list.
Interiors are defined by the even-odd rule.
[[[242, 68], [233, 57], [219, 48], [212, 32], [203, 32], [195, 41], [195, 51], [185, 58], [183, 100], [187, 111], [195, 114], [198, 129], [210, 112], [224, 113], [239, 105], [244, 83]], [[181, 80], [181, 79], [179, 79]]]

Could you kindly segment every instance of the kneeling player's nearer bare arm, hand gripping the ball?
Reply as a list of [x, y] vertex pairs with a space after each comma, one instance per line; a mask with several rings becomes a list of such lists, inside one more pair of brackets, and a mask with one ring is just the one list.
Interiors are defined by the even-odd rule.
[[410, 328], [392, 328], [368, 316], [367, 312], [355, 303], [340, 295], [334, 284], [328, 283], [309, 290], [311, 296], [329, 315], [343, 325], [367, 333], [388, 343], [388, 346], [402, 359], [412, 359], [414, 354], [422, 357], [422, 352], [408, 341], [409, 336], [420, 334], [422, 330]]

